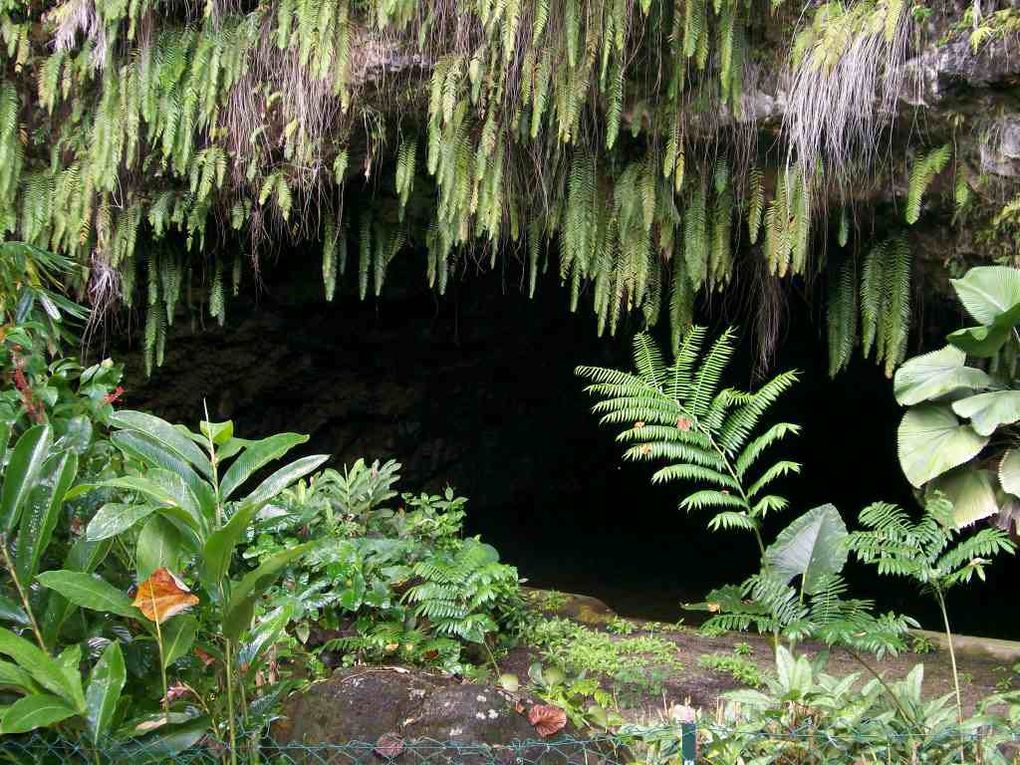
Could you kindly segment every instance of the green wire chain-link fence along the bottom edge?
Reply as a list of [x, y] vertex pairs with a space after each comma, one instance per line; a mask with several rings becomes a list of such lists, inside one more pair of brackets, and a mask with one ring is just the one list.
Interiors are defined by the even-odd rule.
[[[867, 726], [864, 726], [865, 728]], [[193, 740], [192, 740], [193, 741]], [[918, 729], [876, 735], [866, 729], [842, 735], [808, 725], [795, 729], [742, 729], [712, 723], [675, 723], [625, 727], [614, 733], [558, 735], [500, 745], [456, 741], [403, 740], [385, 735], [375, 742], [334, 744], [275, 743], [242, 737], [232, 757], [223, 742], [204, 736], [181, 748], [164, 737], [93, 747], [52, 733], [0, 737], [0, 762], [26, 765], [695, 765], [695, 763], [1020, 763], [1016, 731], [956, 727]], [[708, 759], [703, 759], [709, 755]]]

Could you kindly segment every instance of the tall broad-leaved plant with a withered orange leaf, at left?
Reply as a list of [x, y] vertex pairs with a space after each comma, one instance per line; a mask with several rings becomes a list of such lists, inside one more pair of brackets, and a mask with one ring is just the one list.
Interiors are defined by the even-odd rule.
[[[279, 552], [251, 570], [239, 567], [237, 551], [256, 514], [326, 457], [298, 459], [245, 491], [257, 472], [307, 437], [280, 434], [246, 441], [235, 438], [233, 423], [208, 420], [195, 434], [136, 411], [116, 412], [110, 423], [115, 428], [111, 441], [135, 472], [80, 484], [67, 496], [96, 490], [116, 495], [89, 521], [84, 539], [107, 545], [116, 540], [129, 551], [140, 582], [139, 596], [132, 604], [122, 591], [82, 570], [50, 571], [40, 582], [73, 606], [129, 618], [138, 618], [141, 612], [152, 622], [148, 626], [158, 646], [164, 707], [171, 698], [167, 666], [187, 653], [198, 636], [206, 646], [220, 647], [222, 675], [215, 694], [205, 701], [205, 709], [216, 727], [226, 728], [234, 759], [240, 710], [237, 696], [244, 692], [242, 683], [253, 679], [259, 654], [273, 642], [272, 630], [258, 634], [254, 626], [257, 601], [284, 567], [307, 553], [311, 545]], [[201, 598], [172, 573], [183, 575], [186, 570], [196, 577]], [[161, 627], [182, 608], [199, 603], [201, 619], [180, 618]], [[286, 626], [278, 622], [276, 634]], [[213, 650], [220, 653], [219, 648]], [[210, 705], [224, 698], [221, 709]]]

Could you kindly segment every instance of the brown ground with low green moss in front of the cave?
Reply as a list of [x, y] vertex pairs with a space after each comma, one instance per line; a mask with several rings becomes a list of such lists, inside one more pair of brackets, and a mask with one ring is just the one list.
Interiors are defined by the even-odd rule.
[[[703, 633], [697, 626], [623, 619], [600, 602], [584, 596], [531, 591], [528, 600], [541, 614], [529, 643], [512, 651], [501, 669], [527, 677], [536, 661], [565, 664], [568, 671], [598, 676], [627, 720], [654, 721], [670, 705], [685, 704], [714, 710], [727, 691], [755, 684], [773, 671], [773, 653], [767, 638], [752, 633]], [[937, 641], [915, 641], [921, 652], [906, 652], [881, 660], [864, 657], [877, 672], [899, 678], [916, 664], [924, 665], [924, 684], [932, 698], [952, 692], [949, 653]], [[815, 655], [825, 650], [805, 644], [800, 650]], [[992, 654], [978, 639], [957, 642], [964, 704], [997, 691], [1020, 687], [1020, 644], [1001, 644]], [[1016, 658], [1010, 657], [1010, 649]], [[871, 675], [843, 649], [829, 651], [827, 671], [845, 676], [858, 673], [861, 682]]]

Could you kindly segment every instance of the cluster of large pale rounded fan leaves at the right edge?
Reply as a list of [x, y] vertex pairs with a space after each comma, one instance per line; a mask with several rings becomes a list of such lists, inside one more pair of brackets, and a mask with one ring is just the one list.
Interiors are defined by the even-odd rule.
[[[953, 288], [978, 322], [951, 334], [949, 345], [907, 361], [896, 374], [899, 457], [907, 479], [953, 502], [956, 522], [998, 516], [1020, 521], [1020, 269], [971, 268]], [[974, 366], [968, 365], [968, 358]], [[984, 367], [984, 368], [982, 368]]]

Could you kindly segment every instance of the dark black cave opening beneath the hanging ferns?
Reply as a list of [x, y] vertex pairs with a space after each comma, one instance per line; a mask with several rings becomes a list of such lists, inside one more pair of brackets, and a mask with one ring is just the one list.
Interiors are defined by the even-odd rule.
[[[205, 399], [242, 436], [309, 434], [309, 451], [332, 454], [335, 466], [397, 459], [402, 491], [451, 484], [467, 497], [469, 533], [529, 584], [593, 595], [625, 616], [691, 621], [682, 603], [756, 568], [750, 539], [710, 532], [707, 515], [678, 510], [680, 489], [653, 487], [648, 465], [623, 464], [612, 432], [592, 416], [573, 369], [629, 367], [629, 332], [598, 338], [593, 318], [566, 310], [551, 279], [529, 300], [519, 273], [470, 275], [445, 297], [417, 274], [396, 274], [378, 300], [344, 294], [324, 303], [313, 265], [289, 259], [267, 273], [257, 300], [232, 304], [223, 328], [178, 328], [149, 379], [128, 352], [125, 405], [194, 424]], [[802, 425], [779, 448], [803, 470], [781, 484], [792, 510], [767, 536], [825, 502], [850, 525], [876, 500], [913, 507], [896, 457], [890, 381], [859, 358], [829, 379], [816, 314], [790, 297], [775, 368], [803, 374], [775, 415]], [[725, 325], [707, 318], [699, 316]], [[748, 385], [752, 364], [745, 338], [727, 380]], [[979, 591], [952, 594], [955, 627], [1015, 634], [1018, 571], [1016, 559], [997, 563]], [[849, 578], [855, 596], [938, 628], [934, 608], [910, 586], [853, 566]], [[977, 599], [981, 608], [972, 607]]]

